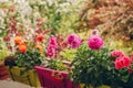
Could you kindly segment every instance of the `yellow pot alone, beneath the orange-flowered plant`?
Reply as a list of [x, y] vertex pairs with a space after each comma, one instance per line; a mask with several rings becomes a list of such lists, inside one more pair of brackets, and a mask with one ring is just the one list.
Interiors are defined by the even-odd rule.
[[7, 67], [8, 70], [10, 72], [10, 76], [12, 80], [19, 81], [25, 85], [30, 85], [31, 87], [40, 87], [40, 82], [37, 76], [35, 70], [27, 70], [23, 72], [21, 75], [21, 70], [23, 68], [20, 68], [18, 66], [13, 66], [12, 68]]

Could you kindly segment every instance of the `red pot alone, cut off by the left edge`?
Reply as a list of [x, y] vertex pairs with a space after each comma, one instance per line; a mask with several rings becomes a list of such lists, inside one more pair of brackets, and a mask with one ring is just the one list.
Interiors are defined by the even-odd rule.
[[3, 62], [0, 62], [0, 80], [7, 79], [7, 78], [9, 78], [9, 73], [6, 66], [3, 65]]

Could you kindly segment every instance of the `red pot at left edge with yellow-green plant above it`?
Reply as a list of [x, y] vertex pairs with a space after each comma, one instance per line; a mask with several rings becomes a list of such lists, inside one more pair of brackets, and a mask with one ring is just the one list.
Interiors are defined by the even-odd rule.
[[9, 78], [9, 73], [3, 64], [6, 56], [8, 56], [8, 48], [6, 47], [3, 40], [0, 40], [0, 79]]

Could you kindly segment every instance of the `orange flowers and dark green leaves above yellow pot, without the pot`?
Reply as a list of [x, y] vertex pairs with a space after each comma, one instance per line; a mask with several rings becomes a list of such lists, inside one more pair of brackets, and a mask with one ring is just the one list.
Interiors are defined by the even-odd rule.
[[[14, 36], [14, 54], [12, 57], [14, 61], [9, 62], [9, 59], [6, 59], [4, 63], [12, 67], [12, 66], [19, 66], [23, 67], [25, 70], [33, 69], [35, 65], [41, 65], [43, 59], [43, 40], [44, 36], [38, 34], [37, 36], [30, 38], [32, 41], [29, 41], [29, 38], [22, 36]], [[10, 57], [10, 56], [9, 56]], [[13, 63], [12, 63], [13, 62]]]

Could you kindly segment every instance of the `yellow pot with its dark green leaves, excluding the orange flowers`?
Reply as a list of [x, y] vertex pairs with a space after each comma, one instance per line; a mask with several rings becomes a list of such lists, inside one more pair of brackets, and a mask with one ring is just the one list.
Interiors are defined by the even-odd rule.
[[[25, 53], [18, 52], [13, 58], [14, 66], [8, 68], [12, 79], [32, 87], [39, 87], [38, 76], [33, 69], [35, 65], [41, 65], [42, 57], [39, 51], [28, 50]], [[11, 66], [12, 64], [9, 65]]]

